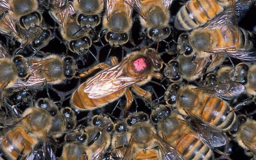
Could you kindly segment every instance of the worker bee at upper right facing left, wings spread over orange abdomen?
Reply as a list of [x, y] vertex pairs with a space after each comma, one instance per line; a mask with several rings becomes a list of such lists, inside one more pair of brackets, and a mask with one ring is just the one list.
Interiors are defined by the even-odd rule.
[[[204, 27], [183, 33], [178, 38], [177, 50], [188, 57], [209, 57], [211, 54], [228, 55], [245, 61], [254, 61], [254, 34], [238, 27], [234, 0], [219, 16]], [[192, 59], [193, 59], [192, 58]]]

